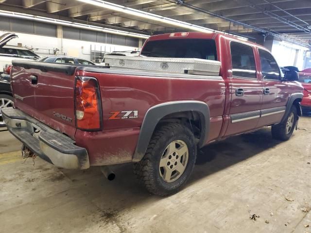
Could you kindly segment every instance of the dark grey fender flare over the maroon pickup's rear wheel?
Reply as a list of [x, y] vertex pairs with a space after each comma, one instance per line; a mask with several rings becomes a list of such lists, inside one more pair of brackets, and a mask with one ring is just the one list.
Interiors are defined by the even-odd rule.
[[165, 103], [157, 104], [151, 107], [143, 121], [140, 128], [138, 137], [138, 143], [136, 150], [133, 155], [133, 162], [140, 161], [149, 145], [152, 134], [154, 133], [155, 127], [158, 122], [167, 115], [180, 112], [198, 112], [201, 118], [201, 136], [199, 146], [202, 147], [204, 142], [207, 141], [209, 132], [209, 108], [205, 102], [197, 100], [181, 100], [181, 101], [170, 101]]

